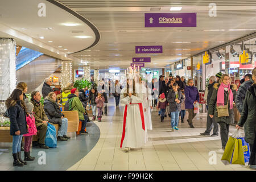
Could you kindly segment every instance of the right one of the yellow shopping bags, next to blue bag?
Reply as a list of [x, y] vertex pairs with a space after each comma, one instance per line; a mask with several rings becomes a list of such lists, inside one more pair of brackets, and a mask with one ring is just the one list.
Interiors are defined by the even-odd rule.
[[236, 139], [231, 163], [245, 165], [245, 157], [243, 156], [242, 139]]

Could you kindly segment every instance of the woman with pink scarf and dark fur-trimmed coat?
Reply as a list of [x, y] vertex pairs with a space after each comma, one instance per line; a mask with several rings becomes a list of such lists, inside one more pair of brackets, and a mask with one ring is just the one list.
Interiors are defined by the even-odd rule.
[[[226, 143], [228, 142], [229, 125], [233, 121], [233, 102], [236, 98], [237, 86], [231, 84], [229, 75], [223, 74], [220, 81], [214, 84], [213, 87], [214, 90], [212, 97], [210, 97], [208, 113], [209, 117], [214, 117], [214, 120], [220, 125], [221, 145], [222, 149], [225, 150]], [[220, 115], [222, 110], [220, 106], [225, 105], [228, 106], [228, 112], [222, 114], [226, 116], [222, 116]]]

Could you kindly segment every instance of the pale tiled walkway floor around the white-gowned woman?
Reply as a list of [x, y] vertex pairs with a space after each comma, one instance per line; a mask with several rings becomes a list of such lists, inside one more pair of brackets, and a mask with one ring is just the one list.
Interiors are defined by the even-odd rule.
[[[119, 147], [123, 107], [120, 105], [115, 108], [113, 98], [109, 102], [109, 115], [104, 115], [102, 122], [95, 122], [101, 131], [96, 146], [68, 170], [250, 170], [237, 164], [225, 166], [221, 162], [223, 151], [220, 150], [220, 135], [200, 136], [206, 126], [205, 114], [198, 114], [193, 120], [195, 129], [190, 129], [186, 113], [185, 122], [179, 123], [179, 130], [171, 132], [170, 118], [160, 122], [158, 112], [153, 111], [153, 130], [148, 131], [148, 142], [142, 148], [123, 152]], [[234, 127], [230, 126], [230, 134], [232, 131]], [[216, 154], [216, 164], [209, 164], [210, 151]]]

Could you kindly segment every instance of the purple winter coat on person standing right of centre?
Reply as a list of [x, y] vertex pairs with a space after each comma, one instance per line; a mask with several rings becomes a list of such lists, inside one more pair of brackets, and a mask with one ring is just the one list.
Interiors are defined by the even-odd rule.
[[185, 90], [185, 109], [194, 109], [194, 102], [199, 102], [199, 92], [195, 86], [186, 86]]

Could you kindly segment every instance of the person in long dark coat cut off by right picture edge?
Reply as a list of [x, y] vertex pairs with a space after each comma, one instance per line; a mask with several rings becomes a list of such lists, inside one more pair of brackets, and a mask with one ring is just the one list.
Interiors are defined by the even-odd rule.
[[243, 101], [243, 110], [241, 113], [240, 121], [237, 123], [236, 128], [245, 126], [245, 141], [250, 145], [250, 161], [249, 167], [256, 169], [256, 68], [253, 69], [253, 85], [249, 87], [245, 94], [245, 100]]

